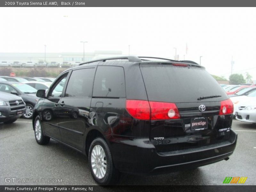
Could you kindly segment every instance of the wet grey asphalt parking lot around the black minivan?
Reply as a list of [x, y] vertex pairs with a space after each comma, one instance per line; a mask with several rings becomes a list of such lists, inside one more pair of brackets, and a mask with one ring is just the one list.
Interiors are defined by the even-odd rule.
[[[118, 184], [221, 185], [226, 177], [248, 177], [244, 185], [256, 185], [256, 125], [234, 120], [232, 129], [238, 133], [238, 141], [228, 161], [156, 176], [123, 174]], [[96, 185], [88, 168], [87, 157], [55, 140], [46, 146], [38, 145], [31, 120], [1, 123], [0, 145], [0, 185]], [[40, 182], [13, 183], [10, 180], [8, 183], [5, 178], [40, 179]], [[51, 180], [47, 182], [48, 179]], [[61, 182], [55, 183], [54, 179]]]

